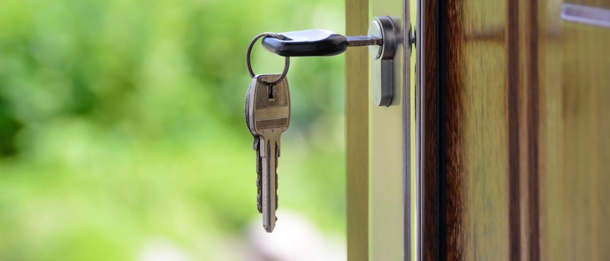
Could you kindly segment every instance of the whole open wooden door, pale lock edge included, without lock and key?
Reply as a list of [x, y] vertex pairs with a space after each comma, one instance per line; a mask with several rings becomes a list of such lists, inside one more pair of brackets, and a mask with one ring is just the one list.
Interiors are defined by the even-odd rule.
[[417, 35], [390, 107], [346, 55], [348, 259], [610, 260], [609, 10], [347, 1], [349, 35], [412, 12]]

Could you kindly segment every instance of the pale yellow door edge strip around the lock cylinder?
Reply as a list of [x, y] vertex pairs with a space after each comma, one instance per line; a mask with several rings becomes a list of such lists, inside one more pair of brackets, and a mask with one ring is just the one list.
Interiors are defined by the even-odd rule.
[[[366, 34], [373, 16], [389, 15], [402, 21], [401, 39], [409, 41], [410, 13], [415, 0], [380, 0], [375, 5], [372, 2], [346, 0], [346, 35]], [[414, 259], [411, 249], [416, 237], [411, 229], [415, 224], [411, 213], [418, 204], [414, 204], [417, 197], [412, 191], [416, 182], [411, 176], [415, 170], [415, 158], [411, 157], [415, 152], [411, 145], [415, 135], [412, 130], [415, 91], [411, 84], [414, 81], [409, 77], [415, 62], [411, 59], [412, 50], [411, 45], [401, 45], [397, 52], [395, 86], [400, 89], [395, 90], [397, 102], [393, 101], [390, 107], [371, 105], [368, 49], [350, 48], [346, 52], [346, 215], [350, 261], [375, 260], [381, 256], [384, 260]], [[383, 127], [393, 129], [391, 135], [383, 135]], [[391, 138], [398, 135], [401, 137], [392, 143]], [[392, 188], [385, 191], [386, 187]]]

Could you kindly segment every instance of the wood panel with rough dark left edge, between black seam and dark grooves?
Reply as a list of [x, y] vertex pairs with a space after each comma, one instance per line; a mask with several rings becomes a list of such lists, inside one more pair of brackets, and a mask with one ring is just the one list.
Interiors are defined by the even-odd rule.
[[[518, 2], [447, 0], [445, 6], [439, 176], [446, 176], [446, 260], [515, 260], [519, 157], [511, 152], [519, 148], [519, 112], [509, 104], [519, 79]], [[500, 41], [464, 37], [493, 28], [504, 28]]]

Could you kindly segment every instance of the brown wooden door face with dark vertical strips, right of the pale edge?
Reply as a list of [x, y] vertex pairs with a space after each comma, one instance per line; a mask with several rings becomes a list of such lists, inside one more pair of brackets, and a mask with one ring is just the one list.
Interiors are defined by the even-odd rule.
[[610, 2], [420, 2], [420, 257], [610, 260]]

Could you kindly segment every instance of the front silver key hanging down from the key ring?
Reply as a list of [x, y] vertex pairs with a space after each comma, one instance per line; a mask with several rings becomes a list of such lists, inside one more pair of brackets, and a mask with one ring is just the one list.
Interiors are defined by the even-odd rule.
[[280, 138], [290, 124], [290, 93], [284, 78], [276, 85], [269, 85], [279, 74], [254, 76], [254, 85], [249, 101], [249, 128], [259, 136], [260, 159], [262, 160], [262, 214], [265, 231], [275, 227], [275, 210], [278, 206], [277, 173], [280, 154]]

